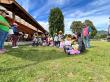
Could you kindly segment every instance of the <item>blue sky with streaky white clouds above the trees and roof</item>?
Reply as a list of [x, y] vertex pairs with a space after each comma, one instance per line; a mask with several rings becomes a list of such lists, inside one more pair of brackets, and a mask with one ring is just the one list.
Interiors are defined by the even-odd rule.
[[97, 30], [107, 30], [110, 0], [17, 0], [46, 30], [50, 9], [61, 8], [65, 18], [65, 33], [71, 33], [72, 21], [93, 21]]

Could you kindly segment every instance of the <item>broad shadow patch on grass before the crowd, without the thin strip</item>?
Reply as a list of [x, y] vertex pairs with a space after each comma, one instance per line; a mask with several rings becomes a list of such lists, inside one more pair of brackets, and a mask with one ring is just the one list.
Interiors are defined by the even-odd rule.
[[25, 60], [42, 62], [66, 57], [66, 54], [59, 52], [57, 49], [49, 47], [25, 47], [10, 49], [8, 55], [16, 56]]

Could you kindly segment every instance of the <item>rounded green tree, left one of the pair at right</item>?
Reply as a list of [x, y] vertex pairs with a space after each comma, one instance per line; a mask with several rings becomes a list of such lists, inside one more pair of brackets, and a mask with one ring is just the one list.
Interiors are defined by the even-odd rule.
[[81, 21], [73, 21], [70, 29], [72, 30], [72, 32], [77, 32], [77, 33], [81, 33], [82, 31], [82, 27], [83, 27], [83, 23]]

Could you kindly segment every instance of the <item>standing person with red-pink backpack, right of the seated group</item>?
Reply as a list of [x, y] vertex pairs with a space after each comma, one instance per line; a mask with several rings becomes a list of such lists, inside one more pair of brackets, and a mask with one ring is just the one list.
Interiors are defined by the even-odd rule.
[[90, 48], [91, 32], [92, 32], [91, 27], [89, 27], [85, 24], [84, 29], [83, 29], [83, 42], [85, 44], [85, 48]]

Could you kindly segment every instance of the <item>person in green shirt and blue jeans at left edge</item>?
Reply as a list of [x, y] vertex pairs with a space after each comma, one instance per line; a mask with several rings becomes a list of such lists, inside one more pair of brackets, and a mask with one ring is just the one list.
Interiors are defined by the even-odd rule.
[[0, 6], [0, 54], [6, 52], [6, 49], [4, 49], [4, 42], [10, 28], [8, 21], [5, 19], [7, 14], [6, 9]]

